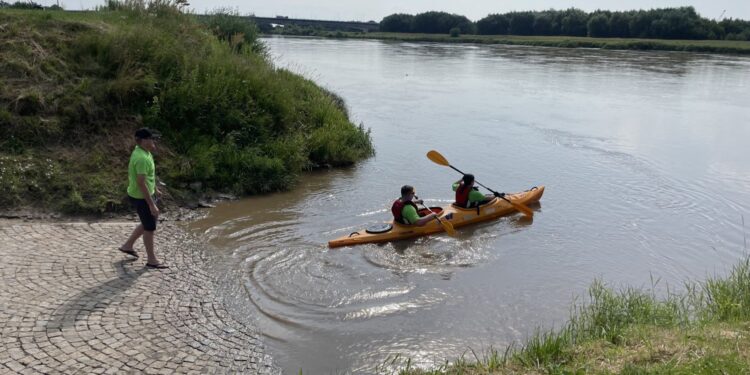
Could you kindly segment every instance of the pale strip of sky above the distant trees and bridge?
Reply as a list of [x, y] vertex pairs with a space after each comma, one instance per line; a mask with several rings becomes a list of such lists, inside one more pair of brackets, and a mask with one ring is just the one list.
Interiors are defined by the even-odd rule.
[[[6, 0], [9, 1], [9, 0]], [[101, 0], [59, 0], [66, 9], [92, 9], [104, 4]], [[55, 0], [36, 2], [43, 5], [55, 4]], [[344, 21], [380, 21], [393, 13], [416, 14], [429, 10], [462, 14], [476, 21], [490, 13], [505, 13], [513, 10], [566, 9], [576, 7], [585, 11], [596, 9], [631, 10], [692, 5], [706, 18], [750, 20], [750, 0], [192, 0], [190, 7], [199, 13], [226, 6], [237, 9], [242, 14], [257, 16], [277, 15], [290, 18], [311, 18]]]

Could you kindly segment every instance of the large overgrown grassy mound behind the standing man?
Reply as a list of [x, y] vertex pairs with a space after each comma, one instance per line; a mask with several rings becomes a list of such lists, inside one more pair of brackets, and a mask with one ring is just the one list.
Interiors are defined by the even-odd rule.
[[287, 189], [373, 152], [341, 98], [273, 67], [239, 19], [169, 1], [0, 10], [0, 210], [125, 208], [142, 126], [164, 135], [157, 175], [176, 202]]

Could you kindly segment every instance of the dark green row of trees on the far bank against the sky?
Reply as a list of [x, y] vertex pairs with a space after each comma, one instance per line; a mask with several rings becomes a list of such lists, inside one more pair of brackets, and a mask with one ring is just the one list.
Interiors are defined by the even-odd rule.
[[750, 40], [750, 21], [703, 18], [692, 6], [587, 13], [565, 10], [490, 14], [477, 22], [458, 14], [396, 13], [383, 18], [380, 31], [400, 33], [480, 35], [565, 35], [610, 38]]

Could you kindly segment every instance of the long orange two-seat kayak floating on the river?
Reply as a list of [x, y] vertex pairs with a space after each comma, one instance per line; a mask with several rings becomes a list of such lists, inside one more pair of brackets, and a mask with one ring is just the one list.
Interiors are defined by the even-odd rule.
[[[538, 202], [544, 194], [544, 186], [533, 187], [520, 193], [505, 194], [505, 198], [522, 204]], [[420, 211], [425, 215], [426, 210]], [[494, 198], [490, 202], [477, 208], [460, 208], [455, 205], [432, 208], [441, 220], [449, 221], [454, 228], [476, 224], [483, 221], [497, 219], [516, 212], [513, 206], [500, 198]], [[404, 225], [391, 220], [388, 223], [375, 225], [373, 227], [352, 232], [347, 236], [328, 241], [328, 247], [353, 246], [366, 243], [390, 242], [406, 238], [426, 236], [429, 234], [445, 231], [437, 220], [432, 220], [424, 226]]]

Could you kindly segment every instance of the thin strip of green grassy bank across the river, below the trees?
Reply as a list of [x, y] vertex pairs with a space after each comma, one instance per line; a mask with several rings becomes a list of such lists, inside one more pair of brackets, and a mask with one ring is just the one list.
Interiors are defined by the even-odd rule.
[[732, 40], [668, 40], [589, 38], [572, 36], [460, 35], [414, 33], [353, 33], [320, 31], [312, 35], [332, 38], [399, 40], [408, 42], [510, 44], [560, 48], [689, 51], [750, 55], [750, 42]]

